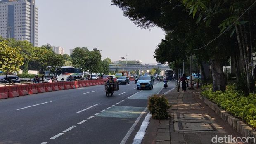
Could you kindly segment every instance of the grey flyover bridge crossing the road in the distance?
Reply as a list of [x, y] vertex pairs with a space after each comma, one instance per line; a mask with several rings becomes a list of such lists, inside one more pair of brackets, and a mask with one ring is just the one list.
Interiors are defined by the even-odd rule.
[[151, 70], [153, 68], [159, 68], [161, 71], [170, 69], [168, 65], [163, 65], [160, 63], [157, 63], [157, 64], [109, 64], [110, 71], [115, 71], [116, 68], [118, 70], [126, 70], [126, 71]]

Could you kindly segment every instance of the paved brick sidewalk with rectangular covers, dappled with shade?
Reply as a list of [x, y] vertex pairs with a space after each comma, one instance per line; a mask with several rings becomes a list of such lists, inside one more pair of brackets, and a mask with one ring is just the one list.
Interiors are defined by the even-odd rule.
[[142, 144], [217, 144], [212, 143], [216, 135], [242, 137], [199, 99], [198, 90], [173, 90], [166, 98], [172, 105], [170, 120], [151, 118]]

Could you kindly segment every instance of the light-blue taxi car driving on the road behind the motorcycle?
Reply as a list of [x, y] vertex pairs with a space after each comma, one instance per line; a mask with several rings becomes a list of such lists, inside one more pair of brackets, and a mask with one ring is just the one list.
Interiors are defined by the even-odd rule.
[[154, 78], [150, 75], [142, 75], [137, 81], [137, 89], [149, 88], [151, 90], [154, 86]]

